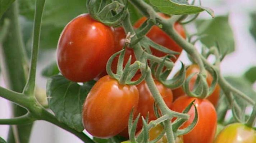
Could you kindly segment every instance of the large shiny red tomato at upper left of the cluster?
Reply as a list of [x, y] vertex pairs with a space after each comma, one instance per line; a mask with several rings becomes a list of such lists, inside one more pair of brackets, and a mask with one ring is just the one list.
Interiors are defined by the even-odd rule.
[[105, 70], [114, 50], [113, 28], [82, 14], [70, 21], [60, 35], [58, 67], [65, 78], [87, 82]]

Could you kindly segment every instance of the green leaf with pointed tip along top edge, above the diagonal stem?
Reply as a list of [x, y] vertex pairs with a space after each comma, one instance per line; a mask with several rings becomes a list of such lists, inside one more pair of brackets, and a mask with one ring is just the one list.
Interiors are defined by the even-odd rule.
[[186, 0], [149, 0], [151, 5], [157, 7], [162, 13], [165, 14], [197, 14], [206, 11], [212, 17], [214, 12], [210, 8], [203, 6], [189, 5]]

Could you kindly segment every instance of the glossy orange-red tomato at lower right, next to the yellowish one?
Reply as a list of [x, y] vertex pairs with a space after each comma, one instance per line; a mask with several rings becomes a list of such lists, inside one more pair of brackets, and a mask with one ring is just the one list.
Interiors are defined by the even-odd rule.
[[[217, 114], [214, 106], [207, 99], [198, 99], [186, 95], [179, 97], [173, 102], [172, 110], [182, 112], [193, 100], [198, 111], [198, 121], [188, 134], [183, 135], [184, 143], [212, 143], [217, 128]], [[195, 108], [188, 112], [190, 118], [182, 128], [188, 127], [195, 117]]]

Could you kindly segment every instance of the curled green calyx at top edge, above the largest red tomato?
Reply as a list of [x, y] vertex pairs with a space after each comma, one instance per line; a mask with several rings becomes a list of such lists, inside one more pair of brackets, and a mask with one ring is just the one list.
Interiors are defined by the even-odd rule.
[[118, 1], [108, 4], [106, 0], [87, 0], [87, 9], [92, 18], [108, 26], [119, 25], [124, 20], [127, 15], [127, 5], [127, 0], [124, 4]]

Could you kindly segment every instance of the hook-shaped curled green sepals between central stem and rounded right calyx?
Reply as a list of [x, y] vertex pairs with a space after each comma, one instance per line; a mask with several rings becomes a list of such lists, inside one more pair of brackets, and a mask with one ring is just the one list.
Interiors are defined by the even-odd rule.
[[164, 84], [166, 87], [175, 89], [184, 83], [186, 79], [186, 68], [184, 64], [181, 62], [182, 66], [179, 71], [178, 75], [175, 75], [172, 79], [167, 79], [168, 75], [170, 74], [171, 70], [165, 70], [164, 72], [161, 72], [160, 75], [158, 76], [158, 80]]

